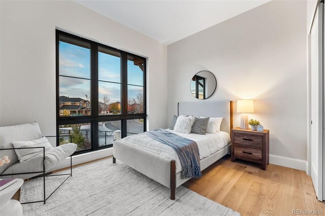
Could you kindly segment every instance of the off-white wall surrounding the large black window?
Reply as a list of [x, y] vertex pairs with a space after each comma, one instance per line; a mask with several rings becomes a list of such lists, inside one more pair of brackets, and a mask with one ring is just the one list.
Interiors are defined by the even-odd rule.
[[56, 28], [148, 57], [148, 129], [167, 126], [165, 45], [72, 1], [0, 5], [1, 126], [38, 121], [43, 135], [56, 135]]

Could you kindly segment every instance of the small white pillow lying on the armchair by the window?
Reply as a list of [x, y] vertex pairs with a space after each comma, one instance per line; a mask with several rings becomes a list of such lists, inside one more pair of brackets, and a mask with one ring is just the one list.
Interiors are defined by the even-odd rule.
[[[32, 141], [13, 141], [12, 145], [14, 148], [23, 148], [23, 147], [45, 147], [45, 151], [53, 149], [51, 143], [44, 136], [39, 139]], [[24, 162], [32, 157], [35, 157], [39, 154], [43, 154], [43, 148], [35, 149], [15, 149], [16, 155], [18, 156], [19, 162]]]

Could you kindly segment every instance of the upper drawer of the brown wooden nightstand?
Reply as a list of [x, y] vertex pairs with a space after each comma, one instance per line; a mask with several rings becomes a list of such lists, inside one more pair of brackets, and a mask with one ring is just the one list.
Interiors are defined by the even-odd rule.
[[262, 149], [263, 137], [254, 134], [235, 133], [235, 145]]

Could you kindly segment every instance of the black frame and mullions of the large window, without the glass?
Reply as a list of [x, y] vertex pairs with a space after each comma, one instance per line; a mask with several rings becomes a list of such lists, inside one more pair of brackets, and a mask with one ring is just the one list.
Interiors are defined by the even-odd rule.
[[[59, 35], [71, 39], [83, 41], [90, 44], [90, 115], [88, 116], [60, 116], [59, 110]], [[121, 111], [120, 114], [115, 115], [99, 115], [99, 61], [98, 48], [99, 46], [106, 49], [119, 52], [121, 59]], [[67, 124], [82, 124], [90, 123], [91, 131], [91, 148], [87, 150], [80, 150], [73, 155], [82, 154], [85, 152], [92, 152], [100, 149], [111, 148], [113, 145], [99, 147], [99, 122], [107, 121], [121, 121], [121, 138], [127, 136], [127, 120], [143, 119], [143, 131], [147, 130], [147, 82], [146, 82], [146, 58], [139, 55], [125, 52], [98, 42], [94, 42], [74, 34], [70, 34], [61, 30], [55, 30], [55, 52], [56, 52], [56, 146], [59, 146], [59, 126]], [[143, 59], [143, 113], [127, 113], [127, 56], [133, 56]], [[94, 102], [92, 102], [94, 101]]]

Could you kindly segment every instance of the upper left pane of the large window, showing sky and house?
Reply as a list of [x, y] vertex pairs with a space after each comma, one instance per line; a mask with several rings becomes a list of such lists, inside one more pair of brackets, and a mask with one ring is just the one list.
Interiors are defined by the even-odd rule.
[[60, 34], [58, 61], [61, 117], [90, 115], [81, 102], [90, 95], [90, 43]]

